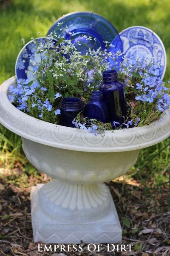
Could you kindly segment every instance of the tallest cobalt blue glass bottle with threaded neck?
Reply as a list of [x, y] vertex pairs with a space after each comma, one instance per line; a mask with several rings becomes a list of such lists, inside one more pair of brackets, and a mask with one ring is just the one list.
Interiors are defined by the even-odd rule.
[[103, 84], [100, 87], [103, 101], [108, 109], [108, 120], [122, 124], [127, 115], [124, 84], [118, 81], [116, 70], [107, 70], [103, 73]]

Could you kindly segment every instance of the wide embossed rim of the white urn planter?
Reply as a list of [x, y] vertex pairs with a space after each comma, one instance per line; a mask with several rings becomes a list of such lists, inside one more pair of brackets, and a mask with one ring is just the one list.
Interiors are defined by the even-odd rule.
[[120, 152], [146, 148], [170, 136], [168, 115], [143, 127], [106, 131], [105, 136], [41, 121], [18, 110], [8, 100], [8, 87], [14, 83], [13, 76], [0, 86], [0, 123], [28, 140], [75, 151]]

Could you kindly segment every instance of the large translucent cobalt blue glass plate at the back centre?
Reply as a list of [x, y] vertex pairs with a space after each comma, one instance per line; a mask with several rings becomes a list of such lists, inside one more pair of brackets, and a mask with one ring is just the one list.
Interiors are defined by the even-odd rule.
[[[101, 47], [108, 51], [116, 53], [122, 52], [122, 41], [115, 27], [104, 17], [93, 12], [73, 12], [60, 17], [48, 30], [47, 35], [55, 33], [57, 36], [71, 40], [77, 47], [77, 50], [85, 55], [88, 47], [97, 50]], [[88, 40], [88, 38], [91, 38]], [[118, 58], [118, 62], [122, 61], [122, 57]], [[114, 62], [111, 65], [115, 65]], [[119, 65], [119, 63], [117, 63]]]

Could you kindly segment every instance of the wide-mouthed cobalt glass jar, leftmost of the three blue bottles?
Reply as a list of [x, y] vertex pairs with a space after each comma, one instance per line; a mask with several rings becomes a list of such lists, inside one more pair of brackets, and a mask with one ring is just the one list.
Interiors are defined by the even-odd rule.
[[79, 98], [63, 98], [60, 103], [60, 125], [75, 127], [73, 119], [83, 110], [82, 100]]

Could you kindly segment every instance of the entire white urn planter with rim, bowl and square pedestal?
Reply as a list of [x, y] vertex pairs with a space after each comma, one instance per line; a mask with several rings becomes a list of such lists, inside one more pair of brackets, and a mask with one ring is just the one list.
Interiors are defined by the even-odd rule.
[[34, 241], [120, 242], [122, 228], [104, 182], [125, 174], [141, 148], [170, 135], [170, 116], [105, 136], [54, 125], [17, 110], [8, 100], [14, 77], [0, 86], [0, 122], [20, 135], [28, 160], [53, 178], [31, 189]]

